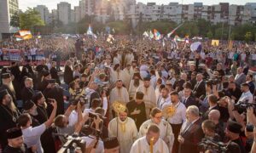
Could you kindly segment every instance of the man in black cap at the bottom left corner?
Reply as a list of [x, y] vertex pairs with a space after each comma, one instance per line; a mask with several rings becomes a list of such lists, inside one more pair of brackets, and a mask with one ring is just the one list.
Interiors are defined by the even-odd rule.
[[8, 145], [3, 153], [31, 153], [24, 144], [23, 134], [20, 127], [13, 127], [7, 130]]

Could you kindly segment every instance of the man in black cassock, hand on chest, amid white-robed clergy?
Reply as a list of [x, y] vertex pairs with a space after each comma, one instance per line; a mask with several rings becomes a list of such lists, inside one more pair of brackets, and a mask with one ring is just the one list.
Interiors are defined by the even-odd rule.
[[143, 122], [147, 120], [145, 103], [143, 102], [144, 94], [137, 92], [135, 100], [131, 100], [127, 103], [128, 116], [130, 116], [136, 123], [137, 129], [141, 127]]

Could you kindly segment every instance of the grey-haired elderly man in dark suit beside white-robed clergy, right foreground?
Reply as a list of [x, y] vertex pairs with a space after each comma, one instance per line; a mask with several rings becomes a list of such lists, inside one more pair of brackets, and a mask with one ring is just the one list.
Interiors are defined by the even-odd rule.
[[178, 136], [179, 153], [198, 153], [197, 144], [201, 142], [204, 136], [198, 107], [190, 105], [186, 111], [186, 116], [187, 121], [183, 124]]

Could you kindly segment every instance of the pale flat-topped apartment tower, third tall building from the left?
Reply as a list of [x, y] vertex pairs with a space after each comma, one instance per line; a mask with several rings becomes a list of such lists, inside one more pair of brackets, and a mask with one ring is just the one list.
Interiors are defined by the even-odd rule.
[[71, 21], [71, 4], [66, 2], [58, 3], [57, 14], [58, 20], [61, 20], [64, 25], [67, 25]]

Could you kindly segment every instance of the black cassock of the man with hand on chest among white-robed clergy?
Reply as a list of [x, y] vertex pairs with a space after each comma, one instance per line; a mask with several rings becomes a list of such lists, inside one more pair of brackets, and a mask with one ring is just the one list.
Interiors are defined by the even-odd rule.
[[[129, 103], [127, 103], [126, 107], [128, 109], [128, 116], [130, 116], [134, 120], [137, 130], [139, 130], [143, 122], [147, 121], [145, 103], [143, 102], [138, 105], [135, 100], [131, 100]], [[131, 112], [135, 110], [139, 110], [140, 113], [136, 115], [131, 115]]]

